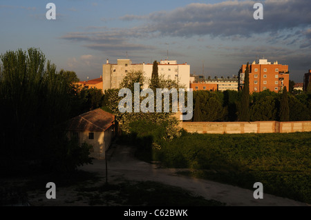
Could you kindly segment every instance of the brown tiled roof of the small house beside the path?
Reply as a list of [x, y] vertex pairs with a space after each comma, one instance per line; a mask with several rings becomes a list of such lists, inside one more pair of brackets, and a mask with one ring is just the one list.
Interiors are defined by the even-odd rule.
[[67, 130], [102, 132], [113, 125], [114, 121], [113, 114], [98, 108], [70, 119], [67, 123]]

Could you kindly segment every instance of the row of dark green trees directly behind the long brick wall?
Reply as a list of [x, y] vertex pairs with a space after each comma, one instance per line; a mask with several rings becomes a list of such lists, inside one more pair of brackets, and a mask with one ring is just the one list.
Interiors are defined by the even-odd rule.
[[[283, 94], [270, 90], [249, 94], [249, 120], [280, 121]], [[286, 94], [290, 115], [288, 121], [311, 120], [311, 92], [301, 94], [286, 92]], [[200, 111], [202, 121], [241, 121], [239, 115], [241, 114], [242, 96], [243, 92], [241, 91], [194, 91], [194, 116], [196, 116], [196, 111]], [[200, 99], [199, 110], [196, 107], [197, 99]], [[196, 117], [192, 121], [195, 119]]]

